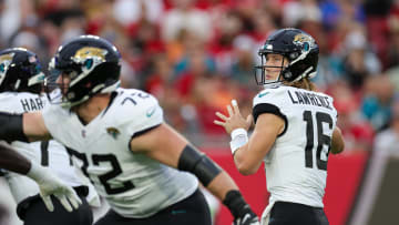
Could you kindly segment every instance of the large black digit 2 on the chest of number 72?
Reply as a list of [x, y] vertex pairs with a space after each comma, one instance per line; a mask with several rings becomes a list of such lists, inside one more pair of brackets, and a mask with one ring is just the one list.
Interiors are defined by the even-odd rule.
[[105, 187], [106, 194], [119, 194], [134, 188], [134, 185], [131, 181], [123, 182], [122, 186], [119, 187], [112, 187], [109, 183], [110, 180], [116, 177], [122, 173], [122, 168], [119, 165], [115, 155], [93, 155], [93, 164], [100, 165], [100, 163], [110, 163], [112, 166], [112, 171], [99, 176], [101, 184]]

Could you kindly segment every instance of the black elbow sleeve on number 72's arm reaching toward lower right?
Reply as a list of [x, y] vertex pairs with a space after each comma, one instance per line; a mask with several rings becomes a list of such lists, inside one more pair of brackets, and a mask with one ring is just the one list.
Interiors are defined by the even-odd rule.
[[193, 173], [204, 186], [207, 186], [222, 172], [216, 163], [191, 145], [184, 147], [177, 168]]

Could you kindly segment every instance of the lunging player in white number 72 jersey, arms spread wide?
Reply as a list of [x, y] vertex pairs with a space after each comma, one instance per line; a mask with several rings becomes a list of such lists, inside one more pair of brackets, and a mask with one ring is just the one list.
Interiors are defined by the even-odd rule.
[[167, 125], [157, 100], [121, 89], [120, 53], [82, 35], [61, 45], [44, 81], [42, 112], [0, 114], [0, 137], [54, 137], [111, 206], [95, 224], [211, 225], [200, 182], [229, 208], [236, 225], [258, 224], [231, 176]]

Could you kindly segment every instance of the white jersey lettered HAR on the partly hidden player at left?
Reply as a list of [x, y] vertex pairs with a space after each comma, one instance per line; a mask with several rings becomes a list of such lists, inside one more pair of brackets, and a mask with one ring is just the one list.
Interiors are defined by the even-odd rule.
[[[0, 93], [0, 112], [25, 113], [42, 110], [47, 104], [47, 99], [28, 92], [3, 92]], [[72, 165], [65, 147], [60, 143], [55, 141], [12, 142], [11, 146], [31, 161], [50, 167], [68, 185], [81, 186], [84, 183], [78, 176], [79, 171]], [[17, 203], [39, 194], [37, 183], [27, 176], [8, 172], [6, 178]], [[84, 183], [84, 185], [90, 188], [88, 202], [98, 205], [99, 197], [93, 186], [90, 183]]]

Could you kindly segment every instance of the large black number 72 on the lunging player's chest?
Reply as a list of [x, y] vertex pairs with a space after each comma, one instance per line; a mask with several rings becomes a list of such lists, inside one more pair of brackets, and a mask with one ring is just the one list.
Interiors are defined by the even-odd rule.
[[[88, 161], [88, 156], [84, 153], [79, 153], [78, 151], [74, 151], [72, 149], [66, 147], [68, 153], [72, 156], [78, 157], [80, 161], [82, 161], [82, 166], [81, 170], [83, 172], [83, 174], [90, 180], [90, 182], [92, 184], [94, 184], [94, 182], [91, 180], [91, 177], [89, 176], [88, 173], [88, 166], [89, 166], [89, 161]], [[125, 191], [132, 190], [134, 188], [134, 185], [131, 181], [126, 181], [122, 183], [122, 186], [119, 187], [112, 187], [111, 184], [109, 183], [109, 181], [111, 181], [112, 178], [115, 178], [116, 176], [119, 176], [122, 173], [122, 168], [120, 166], [120, 164], [117, 163], [117, 160], [115, 157], [115, 155], [112, 154], [106, 154], [106, 155], [92, 155], [92, 161], [94, 165], [100, 165], [100, 163], [110, 163], [110, 165], [112, 166], [112, 170], [99, 175], [99, 180], [101, 182], [101, 184], [104, 186], [106, 194], [119, 194], [119, 193], [123, 193]]]

